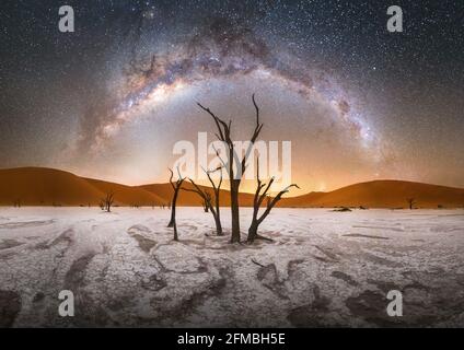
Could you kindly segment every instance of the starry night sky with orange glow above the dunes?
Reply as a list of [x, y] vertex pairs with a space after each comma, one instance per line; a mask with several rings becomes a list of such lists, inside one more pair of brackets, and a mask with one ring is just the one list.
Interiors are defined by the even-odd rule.
[[[58, 30], [63, 4], [74, 33]], [[386, 30], [392, 4], [403, 33]], [[214, 140], [196, 103], [246, 140], [255, 93], [301, 192], [464, 187], [463, 30], [461, 0], [2, 1], [0, 167], [166, 182], [175, 142]]]

